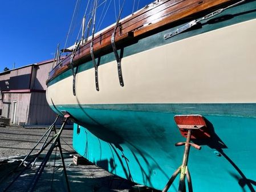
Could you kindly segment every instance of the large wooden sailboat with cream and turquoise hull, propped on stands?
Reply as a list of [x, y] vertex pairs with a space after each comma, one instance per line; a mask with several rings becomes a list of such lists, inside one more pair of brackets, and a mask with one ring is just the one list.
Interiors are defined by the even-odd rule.
[[47, 80], [76, 152], [152, 189], [255, 191], [256, 1], [158, 0], [95, 32], [98, 4]]

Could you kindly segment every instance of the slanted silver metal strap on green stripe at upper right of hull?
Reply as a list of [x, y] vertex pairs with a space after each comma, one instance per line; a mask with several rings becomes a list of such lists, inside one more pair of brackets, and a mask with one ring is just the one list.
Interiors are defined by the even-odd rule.
[[234, 3], [230, 6], [227, 6], [225, 8], [222, 8], [222, 9], [218, 9], [216, 11], [213, 11], [212, 13], [208, 14], [208, 15], [205, 15], [204, 17], [202, 17], [201, 19], [198, 19], [198, 20], [193, 20], [193, 21], [190, 21], [189, 23], [185, 24], [184, 26], [181, 26], [180, 28], [177, 28], [176, 30], [172, 31], [172, 32], [169, 32], [168, 34], [165, 34], [164, 35], [164, 39], [169, 39], [175, 35], [178, 35], [180, 34], [181, 32], [183, 31], [186, 31], [188, 30], [189, 28], [193, 27], [194, 25], [196, 25], [197, 23], [203, 21], [203, 20], [207, 20], [207, 19], [210, 19], [220, 13], [222, 13], [223, 11], [225, 11], [226, 9], [229, 9], [231, 7], [234, 7], [234, 6], [237, 6], [238, 4], [242, 3], [242, 2], [245, 2], [246, 0], [242, 0], [242, 1], [239, 1], [237, 3]]

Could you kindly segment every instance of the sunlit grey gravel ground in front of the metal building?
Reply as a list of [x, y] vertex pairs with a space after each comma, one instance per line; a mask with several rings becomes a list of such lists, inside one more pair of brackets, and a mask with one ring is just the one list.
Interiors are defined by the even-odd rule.
[[[26, 155], [35, 146], [46, 130], [45, 128], [28, 129], [21, 126], [0, 127], [0, 158]], [[72, 148], [72, 131], [72, 129], [64, 129], [60, 136], [63, 152], [74, 151]], [[35, 153], [40, 149], [43, 141], [38, 145]]]

